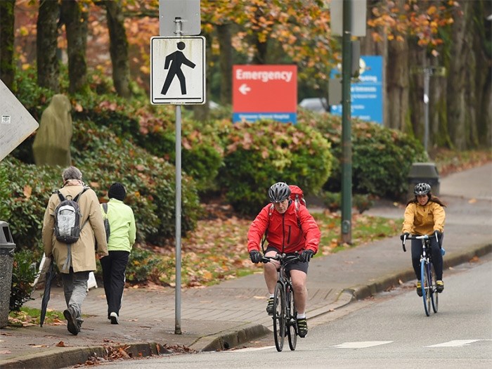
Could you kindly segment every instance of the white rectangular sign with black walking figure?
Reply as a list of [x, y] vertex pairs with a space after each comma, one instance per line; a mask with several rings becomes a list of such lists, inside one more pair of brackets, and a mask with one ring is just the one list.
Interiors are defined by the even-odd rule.
[[150, 101], [153, 104], [204, 104], [205, 37], [150, 39]]

